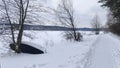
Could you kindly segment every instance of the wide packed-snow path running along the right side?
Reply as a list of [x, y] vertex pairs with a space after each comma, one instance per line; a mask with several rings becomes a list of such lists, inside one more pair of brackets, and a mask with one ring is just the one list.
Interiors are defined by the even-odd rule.
[[110, 35], [100, 35], [89, 52], [84, 68], [119, 68], [115, 60], [118, 47], [119, 40]]

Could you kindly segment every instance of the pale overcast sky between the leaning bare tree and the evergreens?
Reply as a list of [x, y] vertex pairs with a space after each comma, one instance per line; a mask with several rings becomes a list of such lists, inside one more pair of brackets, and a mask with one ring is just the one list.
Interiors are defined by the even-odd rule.
[[[50, 0], [48, 0], [50, 1]], [[59, 0], [52, 0], [51, 5], [56, 7]], [[91, 20], [95, 14], [98, 14], [101, 23], [106, 22], [107, 11], [100, 7], [98, 0], [73, 0], [74, 10], [78, 16], [80, 27], [90, 27]]]

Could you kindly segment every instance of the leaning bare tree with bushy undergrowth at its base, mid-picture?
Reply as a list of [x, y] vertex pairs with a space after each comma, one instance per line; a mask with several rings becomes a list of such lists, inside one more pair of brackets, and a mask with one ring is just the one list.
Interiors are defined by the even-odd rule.
[[56, 15], [63, 26], [71, 28], [71, 31], [65, 32], [66, 39], [80, 41], [82, 36], [76, 31], [72, 0], [60, 0]]

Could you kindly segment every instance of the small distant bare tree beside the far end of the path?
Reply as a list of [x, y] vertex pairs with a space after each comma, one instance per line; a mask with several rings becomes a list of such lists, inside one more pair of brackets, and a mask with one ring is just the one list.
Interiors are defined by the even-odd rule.
[[99, 16], [96, 14], [92, 20], [91, 26], [94, 28], [95, 34], [99, 34], [101, 29], [101, 23]]

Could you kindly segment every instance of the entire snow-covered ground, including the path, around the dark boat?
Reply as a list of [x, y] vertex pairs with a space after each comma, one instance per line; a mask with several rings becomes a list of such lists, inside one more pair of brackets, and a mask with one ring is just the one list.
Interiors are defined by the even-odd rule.
[[8, 54], [0, 42], [1, 68], [120, 68], [120, 40], [112, 34], [83, 33], [83, 41], [66, 41], [61, 32], [32, 31], [24, 42], [42, 46], [40, 55]]

